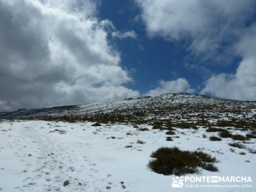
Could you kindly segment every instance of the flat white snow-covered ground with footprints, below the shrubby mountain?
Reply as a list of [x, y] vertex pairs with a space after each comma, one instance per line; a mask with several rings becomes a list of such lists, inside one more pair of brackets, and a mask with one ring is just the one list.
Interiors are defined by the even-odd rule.
[[[173, 141], [165, 141], [164, 131], [152, 130], [148, 125], [140, 127], [150, 131], [139, 131], [132, 125], [91, 125], [0, 122], [0, 191], [256, 191], [256, 154], [239, 148], [231, 152], [230, 138], [209, 141], [208, 137], [216, 132], [176, 129], [175, 136], [180, 138], [173, 136]], [[202, 138], [202, 134], [207, 134], [207, 138]], [[145, 143], [137, 143], [138, 140]], [[255, 149], [255, 139], [244, 145]], [[215, 164], [219, 172], [201, 170], [194, 175], [250, 176], [253, 187], [172, 188], [173, 175], [157, 174], [147, 166], [150, 154], [163, 146], [202, 148], [219, 160]], [[70, 184], [63, 186], [65, 180]]]

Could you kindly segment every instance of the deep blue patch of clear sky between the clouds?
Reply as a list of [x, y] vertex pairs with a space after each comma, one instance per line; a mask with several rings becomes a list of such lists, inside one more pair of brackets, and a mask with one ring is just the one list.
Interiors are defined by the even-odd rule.
[[[146, 93], [157, 87], [160, 79], [170, 81], [182, 77], [188, 79], [189, 84], [195, 88], [195, 93], [199, 93], [205, 79], [212, 74], [236, 72], [241, 60], [239, 56], [233, 56], [225, 65], [218, 65], [220, 63], [214, 59], [207, 60], [207, 72], [189, 68], [189, 64], [201, 62], [189, 54], [190, 40], [167, 41], [162, 37], [148, 36], [145, 24], [136, 20], [140, 13], [140, 8], [131, 0], [113, 0], [111, 4], [102, 1], [99, 11], [100, 19], [111, 20], [118, 30], [134, 30], [137, 34], [135, 39], [115, 40], [116, 46], [122, 52], [122, 65], [127, 67], [134, 79], [133, 83], [128, 84], [132, 89]], [[253, 20], [249, 23], [251, 22]]]

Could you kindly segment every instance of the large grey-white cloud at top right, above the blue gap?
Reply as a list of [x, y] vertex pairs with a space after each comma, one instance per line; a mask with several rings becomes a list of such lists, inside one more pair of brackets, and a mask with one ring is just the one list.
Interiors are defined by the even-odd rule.
[[252, 15], [256, 4], [253, 0], [134, 1], [141, 8], [148, 35], [166, 40], [190, 38], [188, 49], [201, 59], [216, 58], [224, 41], [236, 38], [237, 30]]

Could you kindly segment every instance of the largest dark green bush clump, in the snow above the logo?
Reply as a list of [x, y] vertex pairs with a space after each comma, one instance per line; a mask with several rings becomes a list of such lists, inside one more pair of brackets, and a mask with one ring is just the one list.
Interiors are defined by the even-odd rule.
[[[217, 171], [212, 163], [216, 162], [214, 157], [204, 152], [189, 152], [177, 147], [161, 147], [151, 154], [155, 158], [148, 166], [156, 173], [163, 175], [184, 175], [186, 173], [198, 172], [198, 167], [205, 170]], [[211, 164], [211, 165], [210, 165]]]

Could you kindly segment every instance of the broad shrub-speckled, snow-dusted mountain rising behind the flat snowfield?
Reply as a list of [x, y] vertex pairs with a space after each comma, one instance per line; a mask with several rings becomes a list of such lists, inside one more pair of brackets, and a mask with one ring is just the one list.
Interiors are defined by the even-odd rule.
[[244, 127], [256, 125], [255, 113], [256, 102], [188, 93], [165, 93], [156, 97], [129, 98], [77, 106], [19, 109], [0, 114], [0, 119]]

